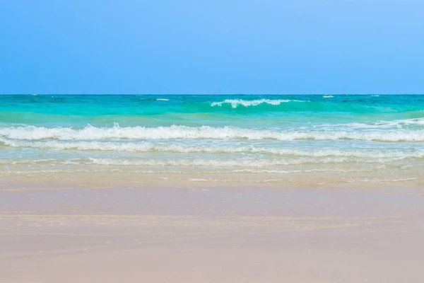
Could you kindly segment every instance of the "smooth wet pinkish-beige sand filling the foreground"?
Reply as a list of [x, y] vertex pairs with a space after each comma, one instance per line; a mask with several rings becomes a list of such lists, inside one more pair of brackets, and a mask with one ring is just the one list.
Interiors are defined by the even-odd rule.
[[0, 187], [0, 282], [424, 282], [420, 187]]

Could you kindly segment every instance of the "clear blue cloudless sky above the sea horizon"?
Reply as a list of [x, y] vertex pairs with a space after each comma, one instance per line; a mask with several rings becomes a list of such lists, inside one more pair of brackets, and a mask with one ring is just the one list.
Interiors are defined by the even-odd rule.
[[424, 93], [424, 1], [0, 0], [0, 94]]

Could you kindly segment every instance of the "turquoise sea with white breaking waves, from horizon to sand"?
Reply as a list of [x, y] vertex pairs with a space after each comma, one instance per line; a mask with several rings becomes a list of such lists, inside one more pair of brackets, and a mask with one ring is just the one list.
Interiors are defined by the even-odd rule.
[[0, 96], [0, 178], [421, 185], [423, 166], [420, 95]]

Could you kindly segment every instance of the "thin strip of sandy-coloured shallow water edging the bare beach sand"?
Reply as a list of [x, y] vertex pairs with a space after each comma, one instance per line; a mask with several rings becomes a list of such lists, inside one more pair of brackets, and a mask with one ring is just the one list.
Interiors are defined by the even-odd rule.
[[[418, 172], [418, 171], [417, 171]], [[377, 171], [373, 173], [134, 173], [64, 172], [1, 174], [0, 190], [33, 189], [34, 187], [276, 187], [290, 188], [424, 188], [417, 172]]]

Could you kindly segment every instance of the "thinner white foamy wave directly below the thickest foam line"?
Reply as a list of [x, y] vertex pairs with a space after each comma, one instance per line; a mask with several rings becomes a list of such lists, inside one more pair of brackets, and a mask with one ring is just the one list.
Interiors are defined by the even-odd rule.
[[34, 149], [58, 149], [79, 151], [129, 151], [129, 152], [171, 152], [171, 153], [205, 153], [205, 154], [271, 154], [278, 156], [300, 157], [357, 157], [357, 158], [423, 158], [424, 151], [418, 150], [340, 150], [340, 149], [280, 149], [264, 146], [232, 146], [211, 144], [158, 144], [150, 141], [22, 141], [3, 140], [6, 146], [34, 148]]

